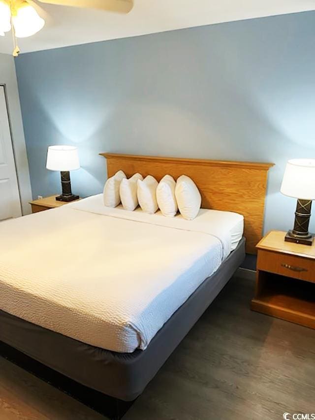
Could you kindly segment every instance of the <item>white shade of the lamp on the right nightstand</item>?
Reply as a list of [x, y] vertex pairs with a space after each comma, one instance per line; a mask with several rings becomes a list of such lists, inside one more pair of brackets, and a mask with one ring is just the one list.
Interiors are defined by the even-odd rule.
[[287, 162], [282, 194], [302, 200], [315, 199], [315, 159], [292, 159]]

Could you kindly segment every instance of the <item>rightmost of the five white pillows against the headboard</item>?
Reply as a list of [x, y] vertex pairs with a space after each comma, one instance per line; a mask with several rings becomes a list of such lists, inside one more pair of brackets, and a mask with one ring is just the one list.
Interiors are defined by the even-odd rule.
[[182, 175], [178, 178], [175, 188], [178, 209], [184, 219], [194, 219], [201, 206], [201, 195], [196, 184], [189, 176]]

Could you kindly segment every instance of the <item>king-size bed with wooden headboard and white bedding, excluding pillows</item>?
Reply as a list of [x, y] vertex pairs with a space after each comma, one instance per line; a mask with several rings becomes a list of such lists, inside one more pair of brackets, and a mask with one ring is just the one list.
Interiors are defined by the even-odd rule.
[[0, 340], [131, 401], [254, 252], [271, 165], [104, 155], [108, 176], [189, 175], [203, 210], [190, 222], [96, 195], [1, 224]]

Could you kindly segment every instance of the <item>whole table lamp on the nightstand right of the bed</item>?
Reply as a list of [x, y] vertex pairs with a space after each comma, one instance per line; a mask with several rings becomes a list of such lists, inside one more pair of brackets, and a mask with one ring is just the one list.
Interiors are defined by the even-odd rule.
[[284, 240], [312, 245], [314, 234], [309, 233], [312, 200], [315, 199], [315, 159], [292, 159], [287, 162], [281, 193], [297, 198], [295, 221]]

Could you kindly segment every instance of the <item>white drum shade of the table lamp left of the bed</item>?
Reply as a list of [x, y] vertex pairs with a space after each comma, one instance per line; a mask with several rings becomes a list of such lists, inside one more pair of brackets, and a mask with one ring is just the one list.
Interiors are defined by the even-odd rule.
[[78, 149], [74, 146], [49, 146], [46, 168], [51, 171], [72, 171], [79, 169]]

